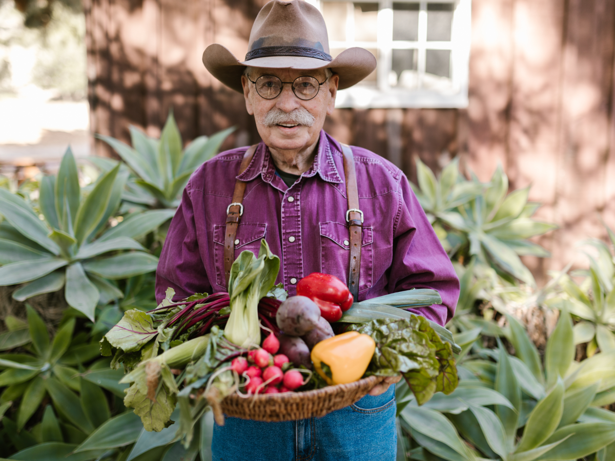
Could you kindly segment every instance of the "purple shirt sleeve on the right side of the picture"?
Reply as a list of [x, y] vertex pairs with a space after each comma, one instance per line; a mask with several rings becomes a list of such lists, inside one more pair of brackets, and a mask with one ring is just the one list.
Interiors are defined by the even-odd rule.
[[445, 325], [453, 317], [459, 298], [459, 278], [404, 175], [400, 179], [388, 291], [395, 293], [411, 288], [437, 290], [442, 304], [408, 309], [410, 312], [439, 325]]

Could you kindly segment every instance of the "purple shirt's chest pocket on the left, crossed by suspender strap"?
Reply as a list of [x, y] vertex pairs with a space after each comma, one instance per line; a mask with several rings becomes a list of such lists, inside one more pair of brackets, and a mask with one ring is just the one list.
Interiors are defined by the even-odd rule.
[[[216, 264], [216, 283], [223, 288], [226, 288], [226, 280], [224, 280], [224, 237], [226, 236], [226, 225], [213, 226], [213, 255]], [[261, 248], [261, 239], [267, 234], [267, 224], [258, 223], [239, 223], [237, 233], [235, 235], [235, 258], [242, 251], [252, 251], [255, 256], [258, 256], [258, 250]]]

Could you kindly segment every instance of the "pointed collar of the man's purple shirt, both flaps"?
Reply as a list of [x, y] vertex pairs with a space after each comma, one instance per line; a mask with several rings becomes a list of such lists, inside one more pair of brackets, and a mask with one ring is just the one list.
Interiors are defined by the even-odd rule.
[[[302, 176], [309, 178], [318, 173], [323, 181], [336, 184], [341, 183], [342, 180], [339, 176], [338, 168], [335, 166], [331, 148], [336, 151], [340, 151], [339, 146], [337, 146], [335, 141], [330, 142], [327, 133], [325, 133], [324, 130], [320, 130], [320, 139], [316, 156], [314, 157], [314, 164], [312, 164], [312, 167], [303, 173]], [[256, 148], [256, 152], [254, 153], [254, 157], [252, 162], [250, 162], [250, 165], [248, 165], [243, 173], [236, 176], [236, 178], [241, 181], [252, 181], [252, 179], [256, 178], [256, 176], [262, 175], [263, 181], [271, 183], [271, 180], [275, 174], [276, 165], [271, 158], [269, 148], [265, 146], [263, 141], [261, 141]]]

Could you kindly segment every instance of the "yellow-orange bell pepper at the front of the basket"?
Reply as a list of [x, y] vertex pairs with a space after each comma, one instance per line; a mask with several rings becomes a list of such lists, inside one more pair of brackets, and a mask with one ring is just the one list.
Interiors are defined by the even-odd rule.
[[375, 350], [369, 335], [348, 331], [320, 341], [311, 357], [314, 369], [329, 385], [347, 384], [363, 376]]

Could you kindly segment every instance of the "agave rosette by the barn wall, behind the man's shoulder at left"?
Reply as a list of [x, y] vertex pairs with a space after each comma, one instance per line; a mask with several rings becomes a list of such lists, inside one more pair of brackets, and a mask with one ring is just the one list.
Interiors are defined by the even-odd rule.
[[97, 135], [109, 144], [138, 176], [127, 184], [124, 199], [154, 208], [177, 208], [190, 175], [211, 159], [220, 144], [235, 130], [227, 128], [213, 136], [199, 136], [182, 149], [180, 130], [169, 112], [160, 140], [137, 127], [130, 127], [132, 148], [111, 136]]

